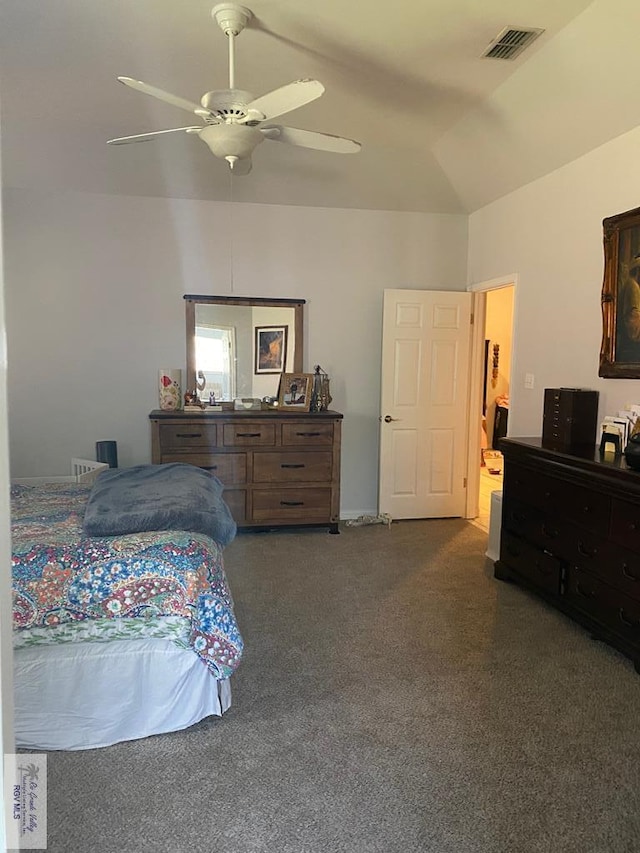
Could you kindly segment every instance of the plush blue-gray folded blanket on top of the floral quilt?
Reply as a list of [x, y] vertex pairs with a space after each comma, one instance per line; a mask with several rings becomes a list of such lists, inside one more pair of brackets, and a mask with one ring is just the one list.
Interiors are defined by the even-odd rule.
[[84, 515], [87, 536], [121, 536], [147, 530], [204, 533], [222, 547], [236, 523], [213, 474], [174, 462], [109, 468], [95, 481]]

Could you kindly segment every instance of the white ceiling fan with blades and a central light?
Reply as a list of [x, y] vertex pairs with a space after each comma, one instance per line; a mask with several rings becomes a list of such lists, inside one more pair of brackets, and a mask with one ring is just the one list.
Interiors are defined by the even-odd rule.
[[125, 86], [194, 113], [203, 120], [204, 124], [138, 133], [135, 136], [121, 136], [118, 139], [109, 139], [108, 144], [147, 142], [167, 133], [197, 134], [216, 157], [227, 161], [235, 175], [249, 174], [251, 155], [265, 139], [302, 148], [332, 151], [337, 154], [354, 154], [360, 150], [360, 143], [353, 139], [271, 124], [273, 119], [319, 98], [324, 92], [324, 86], [318, 80], [296, 80], [259, 98], [254, 98], [250, 92], [236, 89], [235, 38], [251, 20], [252, 12], [235, 3], [219, 3], [211, 10], [211, 16], [229, 39], [228, 89], [206, 92], [197, 104], [155, 86], [149, 86], [141, 80], [118, 77]]

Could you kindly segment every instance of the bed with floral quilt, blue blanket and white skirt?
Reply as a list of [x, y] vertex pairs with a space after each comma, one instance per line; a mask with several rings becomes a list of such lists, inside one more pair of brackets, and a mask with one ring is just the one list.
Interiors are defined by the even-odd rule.
[[[138, 466], [156, 479], [170, 474], [160, 469], [173, 467]], [[193, 466], [175, 467], [190, 469], [181, 476], [197, 472], [218, 483]], [[154, 523], [138, 511], [145, 504], [135, 492], [124, 513], [132, 529], [93, 535], [88, 518], [103, 506], [96, 495], [123, 476], [111, 469], [93, 484], [77, 473], [57, 482], [12, 483], [20, 747], [109, 746], [183, 729], [230, 707], [229, 679], [243, 649], [223, 566], [223, 549], [235, 535], [231, 515], [220, 499], [202, 532], [201, 524], [191, 524], [198, 512], [174, 489], [174, 508]], [[89, 472], [84, 479], [94, 477]], [[201, 511], [204, 501], [195, 494]], [[213, 516], [225, 522], [219, 534]], [[108, 513], [92, 517], [94, 527], [97, 518], [108, 528]], [[167, 524], [172, 518], [179, 523]]]

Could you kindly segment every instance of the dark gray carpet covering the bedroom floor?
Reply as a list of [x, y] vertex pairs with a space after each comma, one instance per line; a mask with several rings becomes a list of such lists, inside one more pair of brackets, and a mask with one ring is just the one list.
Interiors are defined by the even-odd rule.
[[233, 706], [51, 753], [49, 853], [635, 853], [640, 676], [460, 520], [242, 534]]

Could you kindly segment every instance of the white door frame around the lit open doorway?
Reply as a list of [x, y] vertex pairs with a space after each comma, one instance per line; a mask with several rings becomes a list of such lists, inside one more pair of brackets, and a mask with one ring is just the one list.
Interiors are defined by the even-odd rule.
[[[484, 372], [484, 336], [487, 319], [487, 291], [499, 290], [502, 287], [513, 287], [513, 334], [516, 338], [516, 318], [518, 301], [518, 273], [475, 282], [467, 287], [473, 294], [473, 331], [471, 335], [471, 374], [469, 376], [469, 454], [467, 457], [467, 502], [465, 518], [476, 518], [478, 515], [478, 496], [480, 492], [480, 432], [482, 430], [482, 374]], [[513, 370], [513, 346], [511, 359], [511, 377]], [[512, 381], [509, 381], [511, 395]], [[474, 416], [474, 412], [476, 415]], [[507, 434], [509, 432], [507, 422]]]

